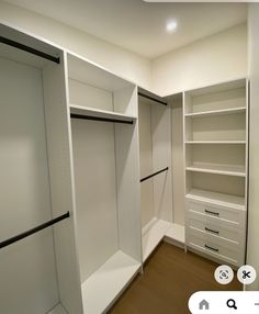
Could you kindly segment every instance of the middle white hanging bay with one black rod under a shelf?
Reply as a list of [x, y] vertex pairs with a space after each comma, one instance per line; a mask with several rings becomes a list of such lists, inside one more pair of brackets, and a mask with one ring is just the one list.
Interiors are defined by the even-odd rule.
[[105, 313], [142, 269], [136, 87], [68, 54], [83, 313]]

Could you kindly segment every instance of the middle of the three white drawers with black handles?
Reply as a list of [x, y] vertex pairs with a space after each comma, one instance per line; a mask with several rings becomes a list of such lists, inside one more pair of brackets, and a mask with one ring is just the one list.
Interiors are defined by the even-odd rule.
[[236, 223], [192, 211], [188, 212], [187, 221], [188, 226], [191, 228], [226, 238], [237, 244], [243, 245], [245, 243], [245, 229], [238, 227]]

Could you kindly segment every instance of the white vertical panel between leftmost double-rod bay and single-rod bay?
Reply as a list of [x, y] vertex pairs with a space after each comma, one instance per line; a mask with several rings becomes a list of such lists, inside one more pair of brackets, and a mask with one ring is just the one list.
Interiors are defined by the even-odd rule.
[[59, 296], [68, 313], [81, 314], [66, 76], [66, 55], [60, 58], [60, 65], [48, 65], [43, 70], [53, 215], [58, 216], [67, 211], [70, 212], [68, 220], [54, 227]]

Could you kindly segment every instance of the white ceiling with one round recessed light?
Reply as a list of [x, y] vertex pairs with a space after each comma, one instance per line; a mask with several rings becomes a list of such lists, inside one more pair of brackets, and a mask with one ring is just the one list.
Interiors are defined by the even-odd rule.
[[[156, 58], [246, 22], [246, 3], [148, 3], [143, 0], [5, 0], [138, 55]], [[177, 20], [176, 32], [166, 23]]]

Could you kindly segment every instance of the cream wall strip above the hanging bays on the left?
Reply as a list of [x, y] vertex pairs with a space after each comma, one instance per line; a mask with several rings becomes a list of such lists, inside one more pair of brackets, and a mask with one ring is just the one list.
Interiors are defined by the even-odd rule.
[[3, 1], [0, 1], [0, 22], [52, 41], [144, 88], [150, 88], [150, 61], [134, 53]]

